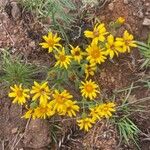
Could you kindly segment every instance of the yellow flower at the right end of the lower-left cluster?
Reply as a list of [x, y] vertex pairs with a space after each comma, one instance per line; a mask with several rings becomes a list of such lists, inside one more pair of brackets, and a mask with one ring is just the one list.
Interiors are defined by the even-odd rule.
[[76, 105], [77, 101], [68, 100], [65, 102], [65, 109], [61, 115], [67, 115], [69, 117], [76, 116], [76, 112], [79, 111], [79, 106]]

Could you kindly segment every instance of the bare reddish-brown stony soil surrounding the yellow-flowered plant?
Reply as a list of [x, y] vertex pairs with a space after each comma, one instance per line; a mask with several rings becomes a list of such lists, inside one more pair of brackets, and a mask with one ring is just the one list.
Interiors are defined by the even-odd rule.
[[[127, 29], [131, 33], [134, 33], [136, 38], [145, 40], [147, 38], [148, 28], [142, 26], [142, 19], [138, 17], [137, 12], [141, 7], [143, 7], [145, 11], [145, 4], [148, 2], [149, 0], [145, 0], [145, 2], [132, 0], [131, 3], [125, 5], [123, 0], [116, 0], [112, 11], [108, 9], [108, 5], [105, 5], [98, 10], [97, 15], [100, 20], [106, 23], [113, 21], [120, 16], [124, 17], [126, 23], [121, 27], [119, 34], [121, 34], [124, 29]], [[43, 24], [36, 20], [30, 13], [21, 13], [20, 18], [16, 20], [10, 15], [11, 12], [8, 13], [8, 11], [9, 7], [0, 14], [0, 48], [8, 47], [12, 54], [22, 55], [29, 62], [49, 66], [50, 56], [43, 50], [41, 51], [38, 46], [41, 35], [45, 33]], [[115, 90], [129, 87], [132, 82], [137, 81], [141, 77], [139, 74], [142, 71], [139, 70], [138, 59], [140, 59], [140, 55], [137, 49], [135, 49], [131, 54], [121, 55], [119, 58], [114, 59], [114, 62], [108, 61], [100, 67], [100, 72], [97, 73], [95, 79], [99, 83], [102, 94], [105, 97], [112, 96], [113, 91]], [[134, 90], [132, 96], [135, 96], [136, 99], [140, 99], [148, 97], [148, 94], [149, 91], [147, 89], [141, 88], [139, 90]], [[48, 132], [47, 125], [41, 122], [35, 123], [34, 125], [32, 122], [29, 126], [30, 131], [32, 131], [32, 134], [30, 135], [30, 131], [25, 130], [27, 121], [20, 119], [22, 116], [22, 108], [17, 105], [12, 105], [6, 95], [6, 93], [0, 91], [0, 149], [1, 146], [3, 146], [6, 150], [11, 149], [11, 147], [15, 147], [16, 150], [17, 147], [20, 148], [20, 150], [21, 148], [30, 150], [33, 147], [31, 148], [30, 146], [29, 148], [28, 146], [33, 144], [37, 145], [36, 142], [40, 139], [41, 141], [43, 139], [47, 140], [44, 141], [44, 144], [46, 143], [46, 145], [43, 145], [44, 148], [41, 147], [38, 149], [39, 147], [36, 147], [34, 149], [49, 149], [46, 148], [47, 146], [51, 147], [51, 145], [49, 145], [49, 138], [47, 138], [48, 135], [45, 135], [45, 131], [43, 132], [41, 127], [44, 124], [47, 130], [46, 132]], [[149, 110], [149, 105], [147, 103], [143, 102], [143, 105], [147, 105], [146, 110]], [[139, 128], [145, 133], [148, 133], [150, 130], [150, 120], [148, 120], [148, 118], [150, 118], [149, 112], [144, 114], [144, 117], [143, 113], [138, 114], [137, 117], [134, 116], [134, 120], [138, 123]], [[62, 128], [64, 127], [64, 129], [62, 129], [63, 134], [61, 133], [62, 137], [60, 139], [64, 137], [67, 140], [62, 142], [62, 147], [60, 149], [119, 150], [119, 148], [117, 148], [117, 135], [115, 129], [106, 123], [96, 124], [88, 134], [79, 132], [74, 125], [72, 126], [69, 124], [69, 126], [66, 127], [64, 124], [67, 126], [66, 122], [62, 123]], [[35, 130], [33, 130], [34, 126]], [[40, 132], [40, 129], [42, 132]], [[33, 135], [36, 132], [41, 135], [37, 141], [33, 138]], [[21, 138], [20, 142], [17, 143], [18, 145], [16, 145], [16, 142], [24, 133], [26, 133], [25, 136]], [[150, 143], [148, 140], [143, 141], [143, 139], [145, 139], [145, 136], [140, 139], [141, 149], [148, 150]], [[28, 142], [29, 144], [27, 144], [27, 146], [25, 143]], [[56, 147], [52, 147], [51, 149], [56, 149]], [[127, 148], [124, 149], [126, 150]], [[136, 150], [135, 147], [128, 149]]]

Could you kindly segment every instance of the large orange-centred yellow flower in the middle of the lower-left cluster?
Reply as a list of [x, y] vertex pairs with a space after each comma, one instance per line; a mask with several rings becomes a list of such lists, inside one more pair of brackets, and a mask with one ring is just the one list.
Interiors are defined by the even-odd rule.
[[70, 93], [68, 93], [66, 90], [64, 90], [63, 92], [59, 92], [58, 90], [55, 90], [53, 94], [53, 98], [54, 99], [50, 103], [53, 106], [53, 109], [59, 114], [61, 114], [64, 113], [64, 110], [66, 110], [66, 105], [68, 100], [72, 99], [73, 96]]

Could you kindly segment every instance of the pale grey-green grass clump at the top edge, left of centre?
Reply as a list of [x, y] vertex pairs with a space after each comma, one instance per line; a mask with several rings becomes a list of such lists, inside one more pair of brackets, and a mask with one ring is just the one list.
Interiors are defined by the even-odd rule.
[[[74, 16], [68, 13], [75, 10], [74, 3], [70, 0], [20, 0], [25, 9], [34, 12], [38, 18], [49, 18], [50, 27], [60, 32], [67, 40], [66, 30], [70, 29], [70, 24], [74, 22]], [[71, 30], [71, 29], [70, 29]]]

